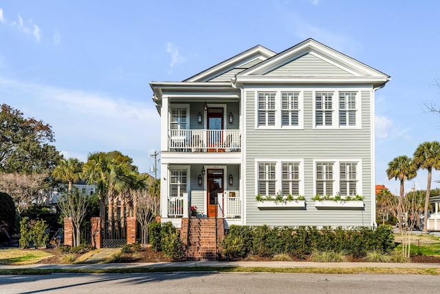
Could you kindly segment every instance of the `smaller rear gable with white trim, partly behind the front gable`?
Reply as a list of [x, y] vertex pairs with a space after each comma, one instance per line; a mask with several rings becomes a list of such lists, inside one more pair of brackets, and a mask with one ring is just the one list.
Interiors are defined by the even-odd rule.
[[[208, 82], [216, 81], [216, 78], [217, 81], [221, 81], [222, 79], [219, 77], [227, 75], [228, 72], [230, 72], [228, 76], [234, 76], [235, 74], [243, 72], [243, 70], [247, 70], [255, 64], [261, 63], [274, 55], [276, 55], [276, 53], [272, 50], [261, 45], [256, 45], [245, 52], [241, 52], [240, 54], [218, 63], [207, 70], [203, 70], [203, 72], [199, 72], [199, 74], [187, 78], [184, 82]], [[228, 81], [230, 81], [230, 78]]]

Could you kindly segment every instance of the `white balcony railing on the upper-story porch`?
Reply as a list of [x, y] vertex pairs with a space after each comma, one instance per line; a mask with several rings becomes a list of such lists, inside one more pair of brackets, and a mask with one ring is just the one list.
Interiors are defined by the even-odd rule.
[[241, 151], [239, 129], [170, 129], [168, 150], [179, 152]]

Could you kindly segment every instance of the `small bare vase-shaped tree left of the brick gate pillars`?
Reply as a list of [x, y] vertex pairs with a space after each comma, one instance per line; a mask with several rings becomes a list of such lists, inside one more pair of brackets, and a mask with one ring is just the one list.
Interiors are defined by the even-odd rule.
[[74, 246], [80, 244], [81, 223], [87, 213], [87, 195], [79, 193], [78, 189], [72, 194], [64, 194], [58, 202], [61, 213], [67, 217], [74, 230]]

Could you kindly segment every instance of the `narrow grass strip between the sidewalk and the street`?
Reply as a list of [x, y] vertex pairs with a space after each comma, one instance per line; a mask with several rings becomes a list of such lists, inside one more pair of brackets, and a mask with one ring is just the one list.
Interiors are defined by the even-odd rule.
[[169, 272], [206, 272], [220, 273], [325, 273], [325, 274], [398, 274], [398, 275], [440, 275], [440, 268], [274, 268], [274, 267], [217, 267], [217, 266], [175, 266], [175, 267], [138, 267], [129, 269], [0, 269], [0, 275], [50, 275], [52, 273], [169, 273]]

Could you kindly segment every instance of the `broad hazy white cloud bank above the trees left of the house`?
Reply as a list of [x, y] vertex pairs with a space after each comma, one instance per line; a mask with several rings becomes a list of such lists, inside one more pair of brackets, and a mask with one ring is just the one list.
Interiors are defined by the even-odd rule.
[[145, 172], [153, 165], [150, 150], [160, 147], [160, 117], [148, 99], [129, 101], [1, 76], [0, 96], [25, 117], [52, 125], [54, 145], [67, 157], [85, 161], [91, 152], [119, 150]]

